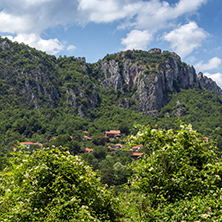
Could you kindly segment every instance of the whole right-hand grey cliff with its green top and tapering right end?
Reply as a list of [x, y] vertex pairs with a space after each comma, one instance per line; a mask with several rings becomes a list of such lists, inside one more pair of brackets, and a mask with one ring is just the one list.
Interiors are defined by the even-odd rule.
[[161, 52], [160, 49], [127, 51], [105, 57], [99, 64], [105, 74], [100, 82], [102, 88], [113, 87], [124, 92], [124, 85], [130, 90], [136, 86], [131, 99], [136, 101], [135, 109], [147, 115], [157, 115], [173, 93], [180, 88], [202, 87], [222, 96], [214, 81], [196, 74], [193, 66], [181, 62], [176, 53]]

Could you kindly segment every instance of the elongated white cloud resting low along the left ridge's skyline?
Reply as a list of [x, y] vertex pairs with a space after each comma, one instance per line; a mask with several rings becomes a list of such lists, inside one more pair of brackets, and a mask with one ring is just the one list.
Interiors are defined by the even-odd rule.
[[31, 47], [36, 49], [45, 51], [49, 54], [56, 54], [62, 50], [64, 50], [64, 44], [59, 42], [58, 39], [42, 39], [39, 35], [34, 33], [31, 34], [18, 34], [15, 37], [7, 36], [12, 41], [16, 41], [18, 43], [25, 43]]

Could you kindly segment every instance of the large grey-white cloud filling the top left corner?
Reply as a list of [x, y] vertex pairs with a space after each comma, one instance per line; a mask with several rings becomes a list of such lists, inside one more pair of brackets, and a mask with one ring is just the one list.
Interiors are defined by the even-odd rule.
[[0, 32], [39, 34], [50, 27], [74, 24], [77, 7], [77, 0], [1, 0]]

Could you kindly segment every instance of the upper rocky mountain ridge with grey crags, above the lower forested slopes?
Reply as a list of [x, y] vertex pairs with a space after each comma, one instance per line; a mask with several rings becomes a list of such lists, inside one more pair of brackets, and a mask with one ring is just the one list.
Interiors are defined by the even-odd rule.
[[1, 38], [0, 70], [11, 100], [23, 98], [36, 110], [66, 104], [81, 117], [113, 90], [118, 94], [116, 105], [151, 116], [157, 116], [180, 88], [204, 88], [222, 96], [213, 80], [197, 75], [176, 53], [159, 48], [118, 52], [90, 64], [84, 57], [56, 58]]

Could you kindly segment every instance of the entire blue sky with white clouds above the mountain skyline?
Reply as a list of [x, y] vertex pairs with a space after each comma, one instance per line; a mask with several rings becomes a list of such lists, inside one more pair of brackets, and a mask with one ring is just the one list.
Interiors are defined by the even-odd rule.
[[222, 88], [221, 0], [1, 0], [0, 36], [97, 62], [128, 49], [176, 52]]

